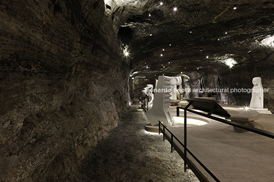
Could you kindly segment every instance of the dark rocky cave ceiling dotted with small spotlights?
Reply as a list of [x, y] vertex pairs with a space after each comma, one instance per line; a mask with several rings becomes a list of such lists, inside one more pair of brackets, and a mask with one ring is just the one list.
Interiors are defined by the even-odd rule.
[[236, 69], [273, 54], [274, 1], [126, 3], [118, 36], [136, 75]]

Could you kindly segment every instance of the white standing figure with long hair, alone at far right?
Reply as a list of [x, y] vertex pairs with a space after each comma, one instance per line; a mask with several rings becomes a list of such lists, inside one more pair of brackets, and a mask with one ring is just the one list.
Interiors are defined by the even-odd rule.
[[263, 108], [264, 107], [264, 93], [261, 77], [254, 77], [252, 80], [252, 96], [250, 100], [250, 108]]

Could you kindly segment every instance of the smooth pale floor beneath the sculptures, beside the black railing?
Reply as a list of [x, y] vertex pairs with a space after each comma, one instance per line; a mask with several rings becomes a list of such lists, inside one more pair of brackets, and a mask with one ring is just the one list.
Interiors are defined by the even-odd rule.
[[[226, 105], [226, 109], [235, 110], [233, 108]], [[171, 111], [175, 116], [176, 107], [171, 107]], [[184, 110], [180, 116], [184, 116]], [[188, 116], [201, 117], [189, 112]], [[188, 148], [220, 181], [274, 181], [274, 139], [252, 132], [239, 133], [231, 125], [204, 119], [209, 123], [188, 127]], [[264, 130], [274, 132], [274, 115], [261, 114], [256, 122]], [[169, 129], [184, 141], [183, 127]], [[215, 181], [198, 164], [196, 167], [209, 181]]]

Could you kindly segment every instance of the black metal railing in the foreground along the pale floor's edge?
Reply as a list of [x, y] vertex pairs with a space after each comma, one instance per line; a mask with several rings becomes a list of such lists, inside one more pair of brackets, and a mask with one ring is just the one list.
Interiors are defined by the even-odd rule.
[[171, 135], [171, 152], [173, 151], [173, 138], [175, 138], [178, 143], [184, 147], [184, 171], [186, 172], [187, 171], [187, 152], [198, 162], [198, 164], [205, 170], [209, 173], [209, 175], [211, 175], [211, 177], [215, 180], [215, 181], [220, 181], [207, 167], [205, 167], [196, 157], [195, 155], [187, 148], [187, 111], [191, 112], [191, 113], [194, 113], [194, 114], [197, 114], [197, 115], [200, 115], [200, 116], [203, 116], [203, 117], [207, 117], [207, 118], [210, 118], [210, 119], [213, 119], [213, 120], [216, 120], [216, 121], [219, 121], [219, 122], [222, 122], [222, 123], [225, 123], [225, 124], [229, 124], [229, 125], [232, 125], [232, 126], [236, 126], [236, 127], [239, 127], [239, 128], [242, 128], [242, 129], [245, 129], [247, 131], [250, 131], [250, 132], [253, 132], [253, 133], [256, 133], [256, 134], [259, 134], [259, 135], [262, 135], [262, 136], [265, 136], [265, 137], [269, 137], [269, 138], [272, 138], [274, 139], [274, 133], [271, 133], [271, 132], [267, 132], [267, 131], [264, 131], [262, 129], [258, 129], [258, 128], [254, 128], [254, 127], [250, 127], [250, 126], [246, 126], [246, 125], [243, 125], [243, 124], [239, 124], [239, 123], [236, 123], [236, 122], [233, 122], [233, 121], [228, 121], [228, 120], [225, 120], [225, 119], [221, 119], [221, 118], [218, 118], [218, 117], [214, 117], [214, 116], [211, 116], [211, 114], [214, 113], [214, 109], [212, 111], [210, 111], [208, 114], [204, 114], [204, 113], [200, 113], [200, 112], [197, 112], [197, 111], [193, 111], [193, 110], [190, 110], [188, 109], [190, 106], [191, 106], [191, 103], [190, 102], [185, 108], [182, 108], [182, 107], [177, 107], [177, 117], [179, 117], [179, 109], [183, 109], [184, 110], [184, 118], [185, 118], [185, 121], [184, 121], [184, 144], [182, 144], [170, 131], [169, 129], [163, 125], [163, 123], [161, 121], [159, 121], [159, 134], [161, 132], [161, 125], [163, 126], [163, 140], [165, 140], [165, 131], [168, 131]]

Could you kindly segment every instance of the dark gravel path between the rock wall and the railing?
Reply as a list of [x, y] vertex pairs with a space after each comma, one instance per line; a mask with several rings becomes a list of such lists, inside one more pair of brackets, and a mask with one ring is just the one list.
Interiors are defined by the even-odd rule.
[[138, 106], [128, 107], [117, 128], [89, 153], [82, 181], [199, 181], [163, 135], [145, 131], [149, 121]]

